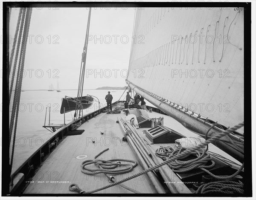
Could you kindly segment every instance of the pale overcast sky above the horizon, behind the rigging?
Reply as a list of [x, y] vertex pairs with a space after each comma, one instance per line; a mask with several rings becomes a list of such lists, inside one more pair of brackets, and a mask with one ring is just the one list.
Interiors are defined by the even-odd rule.
[[[125, 86], [134, 8], [92, 9], [84, 89]], [[14, 38], [19, 9], [12, 9]], [[23, 74], [23, 90], [77, 89], [88, 8], [33, 8]], [[10, 41], [10, 50], [13, 41]], [[96, 73], [98, 72], [98, 73]]]

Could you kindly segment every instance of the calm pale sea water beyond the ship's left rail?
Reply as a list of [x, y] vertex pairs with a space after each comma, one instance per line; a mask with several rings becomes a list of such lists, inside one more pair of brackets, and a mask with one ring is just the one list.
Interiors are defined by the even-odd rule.
[[[118, 101], [124, 92], [123, 90], [110, 91], [113, 96], [112, 102]], [[101, 107], [106, 106], [105, 96], [108, 94], [108, 90], [84, 90], [83, 96], [87, 94], [98, 97]], [[124, 100], [125, 94], [120, 100]], [[77, 91], [62, 90], [59, 93], [56, 91], [24, 91], [21, 93], [12, 172], [40, 148], [49, 137], [54, 135], [54, 133], [42, 127], [44, 125], [47, 107], [51, 107], [50, 123], [64, 123], [64, 115], [60, 114], [61, 98], [64, 98], [64, 96], [76, 97]], [[93, 102], [92, 107], [84, 110], [83, 113], [85, 115], [98, 108], [99, 103]], [[9, 110], [11, 115], [12, 107]], [[72, 121], [73, 115], [74, 111], [65, 114], [66, 124]], [[47, 108], [46, 124], [49, 124], [49, 108]]]

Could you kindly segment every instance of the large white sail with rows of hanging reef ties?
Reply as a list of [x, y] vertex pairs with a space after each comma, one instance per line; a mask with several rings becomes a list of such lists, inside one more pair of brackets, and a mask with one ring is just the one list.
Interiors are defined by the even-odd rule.
[[133, 37], [128, 81], [226, 127], [244, 120], [243, 8], [143, 8]]

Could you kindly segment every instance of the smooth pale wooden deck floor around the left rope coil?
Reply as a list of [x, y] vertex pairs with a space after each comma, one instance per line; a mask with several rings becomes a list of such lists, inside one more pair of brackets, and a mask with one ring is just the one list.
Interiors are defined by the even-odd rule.
[[[123, 130], [116, 123], [117, 117], [125, 113], [100, 115], [81, 125], [78, 130], [84, 130], [81, 135], [67, 136], [49, 155], [32, 178], [32, 182], [23, 194], [76, 194], [69, 191], [69, 186], [76, 183], [84, 191], [109, 184], [103, 174], [90, 176], [81, 172], [81, 163], [86, 159], [94, 159], [101, 151], [109, 148], [97, 159], [131, 159], [138, 165], [127, 174], [116, 175], [116, 180], [124, 179], [143, 170], [127, 142], [123, 142]], [[141, 128], [143, 129], [143, 128]], [[144, 129], [143, 129], [144, 130]], [[103, 132], [103, 134], [101, 134]], [[93, 143], [93, 141], [95, 141]], [[76, 159], [79, 155], [87, 155], [85, 159]], [[64, 182], [64, 183], [61, 183]], [[147, 175], [129, 180], [124, 185], [142, 193], [157, 193]], [[121, 186], [113, 186], [94, 194], [132, 193]]]

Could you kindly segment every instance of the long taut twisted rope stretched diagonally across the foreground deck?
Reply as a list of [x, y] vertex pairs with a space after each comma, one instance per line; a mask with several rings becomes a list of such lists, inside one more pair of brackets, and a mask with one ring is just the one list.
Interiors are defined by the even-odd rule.
[[[131, 177], [127, 177], [127, 178], [125, 178], [125, 179], [123, 179], [123, 180], [119, 180], [119, 181], [117, 181], [117, 182], [115, 182], [115, 183], [109, 184], [108, 186], [104, 186], [104, 187], [102, 187], [102, 188], [98, 188], [98, 189], [93, 190], [93, 191], [87, 191], [87, 192], [85, 192], [85, 191], [82, 191], [82, 190], [78, 187], [78, 185], [76, 185], [76, 184], [71, 184], [71, 185], [69, 186], [69, 190], [70, 190], [70, 191], [79, 191], [79, 193], [82, 191], [81, 193], [83, 193], [83, 194], [91, 194], [91, 193], [94, 193], [94, 192], [97, 192], [97, 191], [100, 191], [100, 190], [103, 190], [103, 189], [106, 189], [106, 188], [110, 188], [110, 187], [112, 187], [112, 186], [116, 186], [116, 185], [118, 185], [118, 184], [120, 184], [120, 183], [123, 183], [123, 182], [125, 182], [125, 181], [134, 179], [135, 177], [139, 177], [139, 176], [141, 176], [141, 175], [143, 175], [143, 174], [146, 174], [146, 173], [148, 173], [149, 171], [153, 171], [153, 170], [155, 170], [156, 168], [160, 168], [160, 167], [162, 167], [163, 165], [166, 165], [166, 164], [168, 164], [169, 162], [174, 161], [175, 159], [179, 159], [180, 157], [183, 157], [183, 156], [185, 156], [185, 155], [187, 155], [187, 154], [190, 154], [191, 152], [194, 152], [194, 151], [196, 151], [196, 150], [198, 150], [198, 149], [200, 149], [200, 148], [203, 148], [205, 145], [207, 145], [207, 144], [209, 144], [209, 143], [212, 143], [212, 142], [214, 142], [214, 141], [216, 141], [216, 140], [219, 140], [221, 137], [226, 136], [227, 134], [232, 133], [232, 132], [236, 131], [237, 129], [239, 129], [239, 128], [243, 127], [243, 126], [244, 126], [244, 122], [241, 122], [241, 123], [239, 123], [238, 125], [235, 125], [235, 126], [229, 128], [229, 129], [227, 129], [227, 130], [224, 130], [222, 133], [219, 133], [218, 135], [213, 136], [212, 138], [208, 139], [207, 141], [202, 142], [202, 143], [196, 145], [195, 147], [186, 149], [185, 151], [181, 152], [180, 154], [174, 155], [173, 157], [170, 157], [170, 158], [166, 159], [165, 161], [161, 162], [160, 164], [154, 165], [154, 166], [152, 166], [151, 168], [147, 168], [147, 169], [145, 169], [145, 170], [143, 170], [143, 171], [140, 171], [139, 173], [134, 174], [134, 175], [132, 175]], [[242, 166], [243, 166], [243, 165], [242, 165]], [[73, 186], [75, 186], [75, 188], [73, 188]]]

